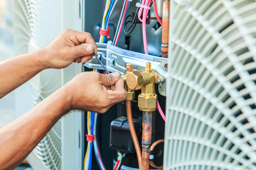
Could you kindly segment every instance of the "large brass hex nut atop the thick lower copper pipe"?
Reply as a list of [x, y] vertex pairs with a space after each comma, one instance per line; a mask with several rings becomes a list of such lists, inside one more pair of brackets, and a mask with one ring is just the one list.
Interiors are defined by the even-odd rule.
[[152, 112], [156, 110], [157, 95], [145, 97], [141, 94], [138, 97], [138, 107], [141, 111]]

